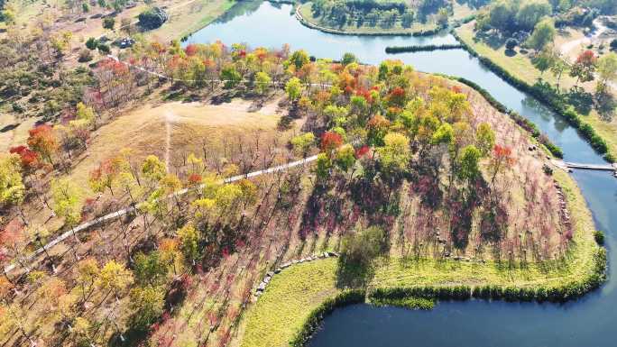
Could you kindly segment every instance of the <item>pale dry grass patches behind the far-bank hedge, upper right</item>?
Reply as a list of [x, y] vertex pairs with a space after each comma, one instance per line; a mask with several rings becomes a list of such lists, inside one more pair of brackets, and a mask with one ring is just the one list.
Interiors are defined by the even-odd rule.
[[[540, 72], [537, 68], [535, 68], [527, 55], [522, 55], [517, 53], [513, 57], [508, 57], [505, 54], [505, 48], [501, 47], [498, 50], [493, 50], [493, 48], [482, 41], [474, 41], [474, 23], [467, 23], [465, 25], [461, 25], [456, 29], [456, 33], [459, 35], [461, 40], [465, 41], [466, 44], [470, 45], [474, 48], [478, 54], [486, 57], [488, 59], [493, 60], [494, 63], [508, 70], [513, 76], [523, 79], [525, 82], [530, 85], [534, 84], [536, 80], [540, 77]], [[547, 80], [551, 84], [557, 83], [557, 78], [555, 78], [548, 71], [542, 75], [544, 80]], [[576, 78], [571, 78], [569, 76], [562, 76], [560, 81], [560, 87], [569, 88], [576, 84]], [[583, 86], [583, 85], [582, 85]], [[585, 83], [583, 86], [587, 91], [594, 90], [594, 82]], [[609, 145], [609, 151], [613, 153], [617, 153], [617, 117], [612, 117], [612, 120], [609, 122], [603, 121], [600, 118], [600, 115], [593, 110], [590, 114], [584, 115], [583, 119], [589, 123], [594, 129], [598, 132], [600, 136], [607, 142]]]

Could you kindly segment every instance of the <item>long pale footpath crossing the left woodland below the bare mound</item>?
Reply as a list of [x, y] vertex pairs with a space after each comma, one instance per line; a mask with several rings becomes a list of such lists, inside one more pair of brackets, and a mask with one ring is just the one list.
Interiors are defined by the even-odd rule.
[[[239, 181], [241, 179], [245, 179], [245, 178], [254, 178], [260, 175], [265, 175], [265, 174], [271, 174], [274, 172], [279, 172], [279, 171], [284, 171], [290, 168], [294, 168], [300, 165], [304, 165], [307, 164], [311, 161], [317, 160], [318, 156], [317, 155], [313, 155], [310, 157], [307, 157], [303, 160], [296, 160], [296, 161], [291, 161], [287, 164], [282, 164], [282, 165], [278, 165], [278, 166], [274, 166], [272, 168], [269, 169], [261, 169], [261, 170], [257, 170], [257, 171], [253, 171], [244, 175], [236, 175], [230, 178], [225, 178], [221, 180], [221, 183], [232, 183], [235, 181]], [[167, 196], [167, 198], [171, 198], [173, 196], [183, 196], [187, 193], [189, 193], [190, 191], [193, 190], [198, 190], [200, 188], [205, 187], [204, 185], [199, 185], [196, 188], [184, 188], [184, 189], [180, 189], [179, 191], [170, 194], [169, 196]], [[32, 254], [28, 255], [23, 262], [32, 262], [32, 260], [34, 260], [34, 258], [36, 258], [38, 255], [40, 255], [42, 252], [44, 251], [49, 251], [51, 248], [53, 248], [54, 246], [56, 246], [57, 244], [59, 244], [60, 242], [63, 242], [64, 240], [66, 240], [67, 238], [69, 238], [71, 235], [73, 234], [77, 234], [79, 232], [83, 232], [85, 230], [87, 230], [88, 228], [90, 228], [91, 226], [97, 225], [97, 224], [101, 224], [107, 221], [111, 221], [114, 220], [118, 217], [121, 217], [123, 215], [127, 215], [129, 213], [132, 213], [136, 210], [139, 210], [139, 208], [143, 205], [144, 203], [139, 203], [136, 205], [131, 205], [131, 206], [127, 206], [124, 207], [120, 210], [117, 210], [115, 212], [112, 212], [108, 215], [103, 215], [101, 217], [98, 217], [96, 219], [93, 219], [91, 221], [88, 221], [84, 224], [79, 224], [78, 226], [72, 228], [71, 230], [62, 233], [60, 236], [56, 237], [54, 240], [52, 240], [51, 242], [48, 242], [47, 244], [45, 244], [44, 246], [42, 246], [41, 248], [39, 248], [38, 250], [32, 252]], [[11, 264], [7, 267], [5, 267], [5, 273], [9, 274], [11, 271], [13, 271], [14, 269], [17, 269], [19, 266], [19, 264]], [[29, 269], [26, 269], [29, 270]]]

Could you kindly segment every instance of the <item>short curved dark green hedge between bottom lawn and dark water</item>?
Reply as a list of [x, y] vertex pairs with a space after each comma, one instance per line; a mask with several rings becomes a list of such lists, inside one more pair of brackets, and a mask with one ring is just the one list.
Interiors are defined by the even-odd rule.
[[364, 303], [366, 292], [364, 290], [345, 290], [336, 297], [327, 298], [318, 308], [314, 309], [304, 322], [299, 332], [290, 341], [292, 347], [303, 347], [309, 342], [310, 337], [318, 329], [319, 324], [326, 315], [329, 315], [337, 307]]

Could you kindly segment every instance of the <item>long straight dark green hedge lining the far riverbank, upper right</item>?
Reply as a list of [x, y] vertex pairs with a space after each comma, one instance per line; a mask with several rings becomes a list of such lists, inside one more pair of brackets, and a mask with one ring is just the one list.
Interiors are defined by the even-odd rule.
[[462, 48], [467, 50], [474, 57], [478, 58], [485, 67], [491, 69], [496, 75], [506, 80], [512, 86], [517, 87], [531, 96], [534, 96], [545, 105], [548, 105], [548, 107], [550, 107], [555, 113], [563, 116], [568, 123], [578, 129], [578, 131], [592, 145], [595, 151], [604, 155], [605, 160], [610, 162], [614, 162], [616, 160], [613, 154], [609, 153], [608, 145], [604, 139], [597, 132], [595, 132], [595, 129], [591, 125], [585, 123], [582, 120], [581, 115], [576, 112], [575, 108], [571, 105], [567, 105], [562, 97], [557, 97], [553, 91], [548, 90], [542, 85], [535, 84], [530, 86], [522, 79], [512, 76], [510, 72], [495, 64], [493, 60], [478, 55], [478, 53], [466, 44], [465, 41], [463, 41], [456, 34], [456, 32], [453, 31], [452, 34], [455, 36], [456, 40], [461, 43]]

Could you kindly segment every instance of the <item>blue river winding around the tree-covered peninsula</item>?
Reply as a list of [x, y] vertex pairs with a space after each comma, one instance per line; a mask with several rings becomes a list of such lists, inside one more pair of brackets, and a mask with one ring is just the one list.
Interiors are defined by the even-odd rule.
[[[520, 92], [465, 50], [385, 53], [386, 46], [456, 43], [450, 34], [431, 37], [347, 36], [309, 29], [292, 15], [291, 5], [242, 2], [221, 20], [189, 37], [190, 42], [245, 42], [251, 47], [308, 50], [319, 58], [340, 59], [352, 52], [364, 63], [401, 59], [425, 72], [439, 72], [470, 79], [488, 90], [502, 104], [539, 126], [560, 146], [565, 160], [603, 163], [600, 155], [564, 119]], [[606, 233], [609, 264], [617, 254], [617, 179], [599, 171], [576, 170], [572, 176], [583, 191], [596, 228]], [[617, 291], [614, 270], [599, 290], [565, 305], [504, 303], [471, 300], [442, 302], [432, 311], [396, 307], [348, 306], [328, 316], [310, 347], [368, 346], [517, 346], [578, 347], [614, 346], [617, 328]]]

